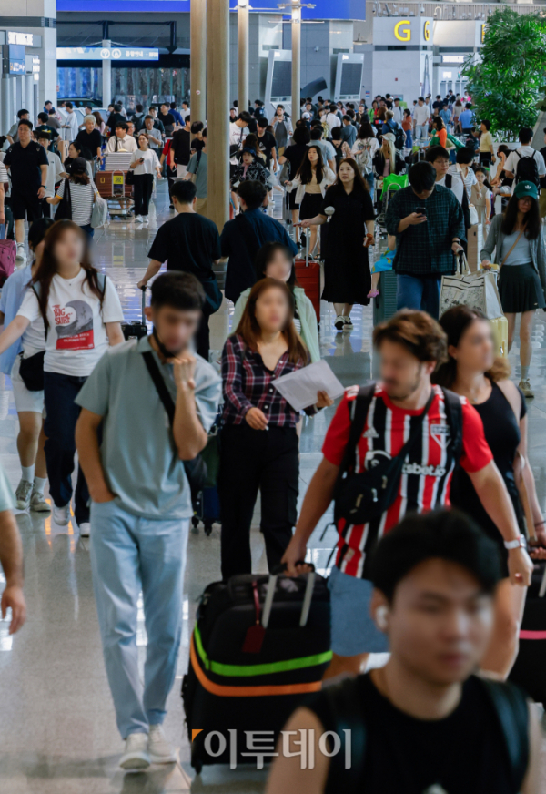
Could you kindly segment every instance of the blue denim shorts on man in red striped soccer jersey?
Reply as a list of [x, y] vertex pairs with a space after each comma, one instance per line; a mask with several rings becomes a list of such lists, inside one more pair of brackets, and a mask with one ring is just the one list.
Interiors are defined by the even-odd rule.
[[381, 654], [389, 650], [387, 636], [379, 631], [369, 605], [373, 585], [367, 579], [343, 574], [333, 567], [328, 581], [330, 591], [332, 650], [339, 657]]

